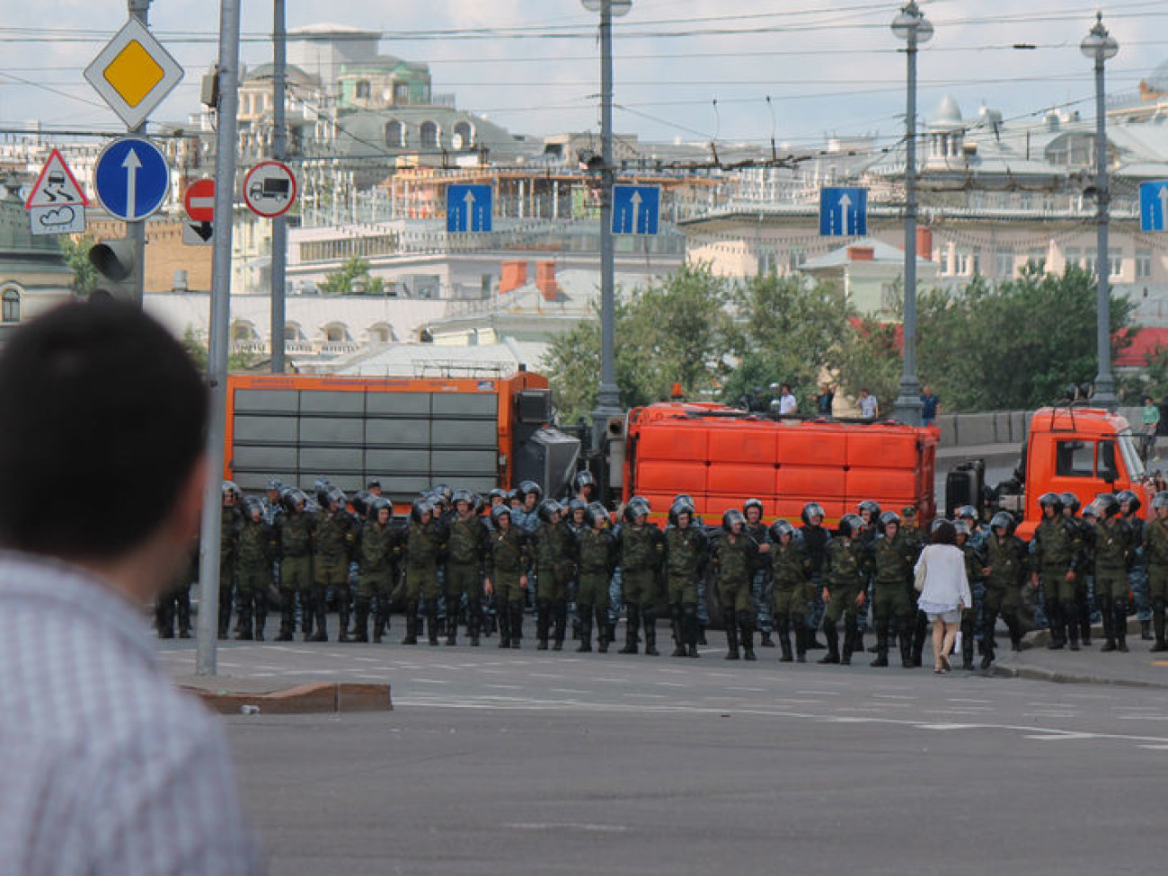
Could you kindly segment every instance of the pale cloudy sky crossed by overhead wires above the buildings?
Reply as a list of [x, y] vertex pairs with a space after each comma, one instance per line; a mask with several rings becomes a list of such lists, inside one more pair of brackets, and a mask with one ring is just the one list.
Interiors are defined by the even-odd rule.
[[[270, 60], [271, 4], [242, 0], [243, 61]], [[152, 120], [197, 110], [217, 54], [216, 0], [154, 0], [151, 27], [187, 76]], [[384, 54], [430, 65], [436, 93], [513, 133], [599, 131], [597, 16], [579, 0], [287, 0], [288, 27], [382, 30]], [[871, 0], [634, 0], [617, 19], [619, 133], [642, 140], [755, 144], [780, 154], [829, 135], [903, 130], [905, 55], [889, 28], [899, 4]], [[1096, 11], [1120, 43], [1108, 93], [1134, 92], [1168, 61], [1168, 4], [1117, 0], [925, 0], [936, 35], [919, 54], [919, 113], [945, 95], [966, 118], [985, 104], [1007, 121], [1050, 107], [1093, 117], [1092, 62], [1079, 42]], [[125, 0], [0, 0], [0, 132], [114, 130], [82, 70], [124, 23]], [[1016, 44], [1033, 49], [1016, 49]]]

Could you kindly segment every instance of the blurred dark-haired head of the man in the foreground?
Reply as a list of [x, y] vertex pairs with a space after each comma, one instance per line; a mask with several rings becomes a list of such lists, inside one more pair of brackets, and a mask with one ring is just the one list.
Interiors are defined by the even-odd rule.
[[[165, 565], [167, 550], [182, 562], [199, 527], [207, 392], [158, 322], [111, 301], [28, 322], [0, 352], [0, 545], [104, 569], [144, 554]], [[90, 513], [29, 501], [78, 482]]]

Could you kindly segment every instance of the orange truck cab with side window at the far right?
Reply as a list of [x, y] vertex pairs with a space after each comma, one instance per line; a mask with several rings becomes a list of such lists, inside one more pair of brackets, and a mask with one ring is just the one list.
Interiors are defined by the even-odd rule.
[[1043, 493], [1073, 493], [1086, 505], [1100, 493], [1131, 489], [1147, 517], [1153, 491], [1143, 484], [1143, 463], [1127, 419], [1103, 408], [1041, 408], [1035, 411], [1023, 449], [1022, 491], [1003, 495], [999, 506], [1022, 515], [1017, 534], [1034, 535]]

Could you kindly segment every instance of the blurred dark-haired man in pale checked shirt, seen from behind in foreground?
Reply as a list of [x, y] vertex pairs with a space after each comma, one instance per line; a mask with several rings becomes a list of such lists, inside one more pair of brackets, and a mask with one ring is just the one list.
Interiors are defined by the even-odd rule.
[[[0, 410], [0, 869], [258, 872], [220, 721], [142, 616], [199, 533], [199, 373], [140, 307], [68, 304], [8, 338]], [[75, 494], [77, 471], [100, 514], [28, 501]]]

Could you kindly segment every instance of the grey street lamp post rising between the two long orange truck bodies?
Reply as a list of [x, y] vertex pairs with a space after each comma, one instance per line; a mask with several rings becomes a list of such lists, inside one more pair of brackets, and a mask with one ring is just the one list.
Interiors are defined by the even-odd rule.
[[612, 18], [626, 15], [632, 0], [580, 0], [589, 12], [600, 13], [600, 385], [592, 411], [592, 446], [599, 449], [609, 418], [620, 413], [617, 387], [616, 304], [612, 251]]

